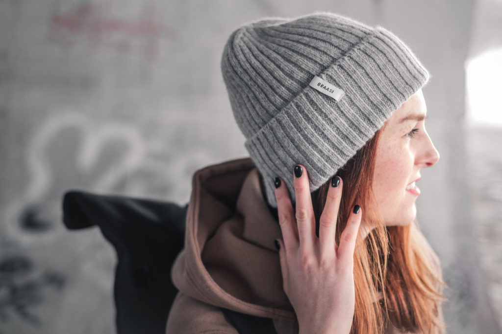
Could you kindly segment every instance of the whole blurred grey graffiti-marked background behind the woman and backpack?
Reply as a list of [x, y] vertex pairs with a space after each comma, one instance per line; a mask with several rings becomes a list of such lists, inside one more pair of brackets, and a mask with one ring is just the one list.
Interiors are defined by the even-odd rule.
[[450, 333], [502, 325], [502, 1], [0, 1], [0, 332], [112, 333], [116, 255], [67, 231], [82, 189], [185, 204], [199, 168], [247, 156], [220, 74], [239, 25], [313, 11], [382, 25], [432, 74], [420, 227]]

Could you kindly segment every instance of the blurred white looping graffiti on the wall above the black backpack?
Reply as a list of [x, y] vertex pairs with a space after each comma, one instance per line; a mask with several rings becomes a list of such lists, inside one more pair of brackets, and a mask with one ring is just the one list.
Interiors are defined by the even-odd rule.
[[[65, 142], [73, 143], [75, 136], [80, 138], [74, 143], [78, 146], [65, 147]], [[102, 161], [113, 152], [113, 159], [103, 166]], [[60, 196], [69, 183], [94, 191], [113, 191], [140, 167], [144, 157], [144, 141], [131, 125], [97, 125], [71, 112], [48, 118], [28, 143], [29, 175], [21, 193], [5, 209], [3, 235], [21, 245], [50, 242], [63, 230]], [[51, 233], [40, 233], [44, 231]]]

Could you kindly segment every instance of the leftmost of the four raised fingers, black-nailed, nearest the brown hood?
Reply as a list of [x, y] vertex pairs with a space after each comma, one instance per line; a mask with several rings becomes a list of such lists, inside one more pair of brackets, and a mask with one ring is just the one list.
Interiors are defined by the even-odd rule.
[[284, 240], [284, 247], [287, 252], [298, 247], [298, 232], [295, 224], [295, 211], [291, 204], [288, 187], [283, 180], [278, 177], [275, 180], [275, 194], [277, 202], [277, 214], [279, 216], [279, 225]]

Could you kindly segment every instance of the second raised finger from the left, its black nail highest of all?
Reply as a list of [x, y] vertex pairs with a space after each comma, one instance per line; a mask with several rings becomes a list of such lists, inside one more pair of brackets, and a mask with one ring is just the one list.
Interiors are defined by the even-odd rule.
[[296, 199], [295, 218], [298, 225], [300, 248], [312, 250], [316, 235], [309, 177], [303, 165], [296, 165], [293, 174]]

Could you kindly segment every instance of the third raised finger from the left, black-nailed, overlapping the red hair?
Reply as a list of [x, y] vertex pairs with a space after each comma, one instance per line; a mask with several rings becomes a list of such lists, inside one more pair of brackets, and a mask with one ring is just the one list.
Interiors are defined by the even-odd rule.
[[334, 255], [336, 220], [342, 197], [342, 186], [343, 182], [339, 176], [335, 176], [331, 180], [326, 204], [319, 218], [319, 243], [321, 257], [323, 258]]

